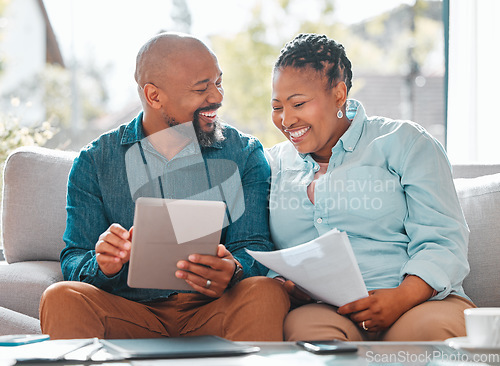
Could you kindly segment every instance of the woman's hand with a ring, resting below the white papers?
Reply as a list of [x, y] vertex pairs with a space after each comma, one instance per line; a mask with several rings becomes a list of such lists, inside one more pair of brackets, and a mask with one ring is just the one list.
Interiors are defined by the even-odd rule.
[[364, 299], [341, 306], [338, 313], [348, 316], [358, 326], [369, 332], [389, 328], [401, 315], [428, 300], [434, 292], [417, 276], [407, 276], [401, 285], [391, 289], [369, 292]]

